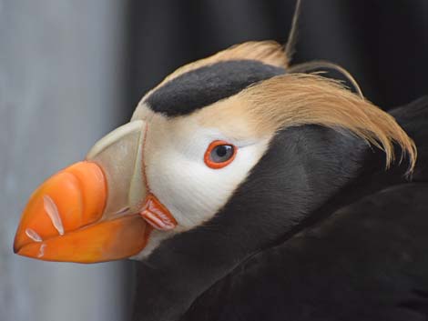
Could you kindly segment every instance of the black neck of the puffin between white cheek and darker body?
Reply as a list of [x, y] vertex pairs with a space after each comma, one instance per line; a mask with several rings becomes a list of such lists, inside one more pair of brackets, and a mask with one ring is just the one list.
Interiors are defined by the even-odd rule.
[[337, 205], [335, 196], [362, 176], [372, 154], [352, 135], [316, 125], [276, 135], [217, 216], [164, 241], [139, 264], [135, 319], [177, 320], [248, 257], [286, 240], [323, 206]]

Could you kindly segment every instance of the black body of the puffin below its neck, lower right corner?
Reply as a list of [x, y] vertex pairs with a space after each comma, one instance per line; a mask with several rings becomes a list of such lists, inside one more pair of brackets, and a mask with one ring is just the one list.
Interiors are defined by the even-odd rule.
[[426, 320], [427, 184], [393, 186], [251, 257], [183, 320]]

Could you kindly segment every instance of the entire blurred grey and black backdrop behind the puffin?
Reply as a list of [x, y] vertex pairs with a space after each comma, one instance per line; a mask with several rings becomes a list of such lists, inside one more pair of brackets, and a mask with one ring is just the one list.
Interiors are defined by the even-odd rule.
[[[0, 0], [0, 321], [121, 321], [134, 265], [15, 256], [20, 213], [47, 176], [123, 124], [179, 65], [287, 39], [295, 0]], [[382, 108], [428, 94], [427, 0], [303, 0], [295, 62], [348, 68]]]

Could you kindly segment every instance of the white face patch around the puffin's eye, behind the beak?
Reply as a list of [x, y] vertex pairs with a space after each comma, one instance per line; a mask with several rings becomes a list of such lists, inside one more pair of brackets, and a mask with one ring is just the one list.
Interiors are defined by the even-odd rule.
[[[148, 246], [135, 258], [148, 256], [158, 244], [176, 233], [207, 222], [226, 205], [268, 148], [270, 138], [234, 142], [216, 130], [188, 122], [186, 129], [168, 127], [168, 122], [148, 125], [144, 150], [150, 192], [167, 206], [178, 226], [170, 232], [153, 231]], [[189, 128], [190, 127], [190, 128]], [[213, 169], [204, 154], [214, 140], [238, 146], [235, 159], [223, 168]]]

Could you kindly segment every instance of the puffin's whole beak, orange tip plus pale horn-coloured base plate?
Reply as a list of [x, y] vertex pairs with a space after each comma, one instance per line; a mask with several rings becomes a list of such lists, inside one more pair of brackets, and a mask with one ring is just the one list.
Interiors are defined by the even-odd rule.
[[[142, 251], [153, 230], [139, 213], [147, 207], [146, 199], [153, 203], [142, 173], [145, 133], [142, 121], [117, 128], [92, 148], [86, 161], [66, 167], [37, 188], [17, 228], [15, 253], [94, 263]], [[150, 208], [156, 212], [159, 206]], [[176, 224], [173, 218], [165, 222], [171, 228], [170, 222]]]

